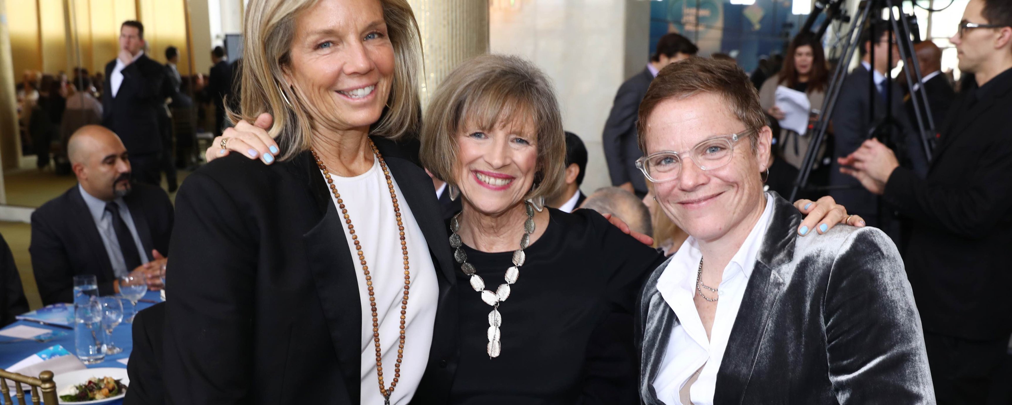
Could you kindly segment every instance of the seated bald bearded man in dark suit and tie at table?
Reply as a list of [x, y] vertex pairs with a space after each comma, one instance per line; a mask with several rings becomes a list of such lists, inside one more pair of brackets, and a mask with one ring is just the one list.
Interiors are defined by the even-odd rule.
[[31, 215], [28, 251], [43, 304], [73, 302], [79, 274], [95, 274], [102, 296], [117, 294], [126, 274], [160, 289], [172, 233], [168, 194], [131, 183], [126, 148], [104, 127], [75, 132], [67, 154], [78, 184]]

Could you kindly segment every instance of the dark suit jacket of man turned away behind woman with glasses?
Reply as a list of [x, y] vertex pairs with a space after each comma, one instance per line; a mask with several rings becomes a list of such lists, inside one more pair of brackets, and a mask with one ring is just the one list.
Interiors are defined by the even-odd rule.
[[643, 156], [637, 140], [636, 125], [640, 114], [640, 102], [647, 95], [647, 88], [653, 80], [654, 75], [650, 70], [644, 69], [618, 87], [601, 137], [611, 185], [631, 182], [638, 194], [647, 193], [647, 180], [640, 169], [636, 168], [636, 160]]

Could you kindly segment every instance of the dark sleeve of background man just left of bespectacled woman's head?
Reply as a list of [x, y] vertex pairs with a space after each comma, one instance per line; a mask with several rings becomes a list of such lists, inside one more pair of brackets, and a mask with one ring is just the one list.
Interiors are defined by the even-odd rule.
[[641, 95], [631, 88], [629, 82], [623, 83], [615, 94], [614, 104], [608, 119], [604, 123], [604, 133], [601, 142], [604, 147], [604, 158], [608, 162], [608, 174], [611, 185], [621, 185], [630, 181], [630, 173], [625, 172], [628, 162], [622, 153], [622, 139], [636, 137], [636, 122], [640, 111]]

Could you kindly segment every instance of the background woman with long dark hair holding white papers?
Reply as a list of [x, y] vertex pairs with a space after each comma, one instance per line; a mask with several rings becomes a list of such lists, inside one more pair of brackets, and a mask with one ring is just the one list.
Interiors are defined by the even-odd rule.
[[[822, 43], [814, 33], [800, 33], [790, 42], [786, 55], [789, 58], [784, 60], [780, 73], [767, 79], [760, 87], [759, 105], [774, 120], [783, 119], [786, 115], [776, 105], [777, 88], [783, 86], [799, 91], [808, 94], [809, 102], [812, 104], [808, 111], [809, 122], [814, 124], [818, 119], [819, 108], [822, 108], [825, 100], [826, 85], [830, 79]], [[781, 195], [789, 195], [797, 177], [797, 169], [802, 167], [805, 155], [809, 151], [809, 144], [812, 143], [812, 131], [800, 136], [794, 131], [781, 128], [779, 133], [774, 135], [773, 162], [767, 181], [771, 190]], [[819, 163], [825, 152], [826, 146], [823, 145], [819, 150], [820, 159], [816, 161], [815, 166], [821, 170], [813, 172], [810, 184], [825, 185], [829, 180], [829, 167]], [[808, 193], [802, 195], [808, 196]]]

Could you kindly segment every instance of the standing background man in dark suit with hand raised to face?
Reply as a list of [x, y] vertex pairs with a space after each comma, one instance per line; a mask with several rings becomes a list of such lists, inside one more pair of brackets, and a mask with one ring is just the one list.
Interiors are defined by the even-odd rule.
[[144, 53], [144, 24], [119, 26], [119, 53], [105, 65], [102, 125], [119, 136], [130, 152], [133, 178], [161, 185], [165, 70]]

